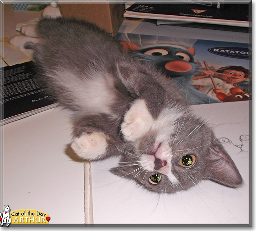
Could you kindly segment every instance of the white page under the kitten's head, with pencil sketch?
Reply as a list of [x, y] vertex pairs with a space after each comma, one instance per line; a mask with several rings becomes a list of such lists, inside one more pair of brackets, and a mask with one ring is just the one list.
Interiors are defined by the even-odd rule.
[[[91, 163], [94, 224], [249, 224], [249, 101], [194, 105], [208, 120], [239, 169], [233, 189], [208, 180], [188, 191], [158, 195], [110, 173], [117, 158]], [[243, 146], [241, 146], [243, 144]]]

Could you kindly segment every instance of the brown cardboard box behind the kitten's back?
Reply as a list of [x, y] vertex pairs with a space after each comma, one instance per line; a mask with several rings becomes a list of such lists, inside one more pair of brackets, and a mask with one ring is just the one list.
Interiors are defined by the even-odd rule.
[[58, 6], [63, 17], [93, 22], [113, 36], [117, 34], [123, 21], [124, 4], [122, 3], [63, 3]]

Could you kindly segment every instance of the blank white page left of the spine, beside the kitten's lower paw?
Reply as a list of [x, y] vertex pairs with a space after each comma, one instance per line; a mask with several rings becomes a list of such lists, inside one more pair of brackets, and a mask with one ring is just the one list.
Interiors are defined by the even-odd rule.
[[83, 161], [68, 148], [68, 115], [56, 107], [2, 126], [3, 206], [43, 211], [49, 224], [84, 224]]

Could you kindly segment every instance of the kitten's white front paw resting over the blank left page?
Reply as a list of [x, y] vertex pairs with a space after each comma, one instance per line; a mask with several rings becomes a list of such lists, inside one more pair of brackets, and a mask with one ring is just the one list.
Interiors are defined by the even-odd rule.
[[74, 139], [71, 144], [74, 152], [86, 160], [96, 160], [104, 155], [108, 146], [107, 139], [103, 133], [84, 133]]

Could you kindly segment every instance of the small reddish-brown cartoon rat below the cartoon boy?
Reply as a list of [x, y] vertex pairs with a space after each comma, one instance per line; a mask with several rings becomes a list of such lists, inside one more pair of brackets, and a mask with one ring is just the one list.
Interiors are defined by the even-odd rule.
[[222, 102], [243, 101], [251, 98], [248, 93], [243, 92], [239, 87], [232, 87], [229, 91], [231, 95], [226, 93], [217, 93], [216, 96]]

